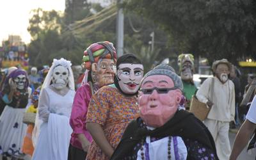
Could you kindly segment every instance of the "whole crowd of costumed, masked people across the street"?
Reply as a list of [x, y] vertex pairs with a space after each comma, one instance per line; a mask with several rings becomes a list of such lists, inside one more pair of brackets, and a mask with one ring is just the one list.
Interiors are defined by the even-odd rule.
[[[157, 65], [144, 74], [140, 58], [117, 58], [105, 41], [90, 45], [83, 61], [77, 79], [64, 58], [38, 72], [32, 67], [29, 76], [17, 67], [4, 72], [3, 160], [236, 159], [256, 131], [255, 79], [250, 75], [241, 102], [249, 111], [241, 118], [237, 70], [225, 59], [212, 63], [213, 77], [199, 89], [192, 54], [179, 55], [179, 72]], [[211, 108], [204, 120], [189, 111], [193, 97]], [[232, 150], [228, 131], [241, 120]], [[249, 148], [255, 143], [256, 136]]]

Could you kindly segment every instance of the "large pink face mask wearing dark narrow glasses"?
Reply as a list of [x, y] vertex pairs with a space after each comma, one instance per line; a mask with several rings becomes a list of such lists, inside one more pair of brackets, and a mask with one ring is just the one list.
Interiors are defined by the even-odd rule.
[[140, 117], [149, 127], [161, 127], [176, 113], [181, 96], [170, 77], [148, 76], [139, 93]]

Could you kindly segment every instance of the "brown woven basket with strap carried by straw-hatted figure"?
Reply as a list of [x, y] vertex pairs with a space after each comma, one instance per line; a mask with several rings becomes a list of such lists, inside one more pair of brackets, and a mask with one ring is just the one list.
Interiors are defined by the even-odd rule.
[[[209, 91], [211, 91], [210, 97], [213, 95], [214, 90], [214, 78], [211, 80], [211, 87], [209, 87]], [[196, 95], [193, 95], [190, 103], [189, 112], [193, 113], [196, 118], [203, 121], [207, 118], [209, 112], [211, 111], [211, 107], [207, 106], [207, 104], [200, 102]]]

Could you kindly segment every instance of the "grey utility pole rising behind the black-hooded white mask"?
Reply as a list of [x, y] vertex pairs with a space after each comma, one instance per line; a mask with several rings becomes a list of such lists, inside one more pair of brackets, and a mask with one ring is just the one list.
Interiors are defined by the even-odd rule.
[[[118, 0], [118, 3], [123, 3], [123, 0]], [[117, 22], [117, 56], [120, 57], [124, 54], [124, 12], [123, 8], [118, 8]]]

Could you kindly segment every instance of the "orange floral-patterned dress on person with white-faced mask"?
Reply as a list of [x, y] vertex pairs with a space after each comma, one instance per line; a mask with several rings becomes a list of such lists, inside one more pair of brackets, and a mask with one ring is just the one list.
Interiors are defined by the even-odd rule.
[[[110, 145], [115, 149], [125, 128], [138, 118], [139, 107], [136, 96], [125, 97], [117, 88], [104, 86], [90, 100], [86, 123], [100, 124]], [[86, 159], [109, 159], [92, 141]]]

